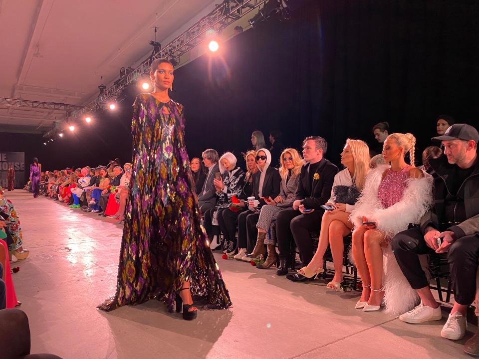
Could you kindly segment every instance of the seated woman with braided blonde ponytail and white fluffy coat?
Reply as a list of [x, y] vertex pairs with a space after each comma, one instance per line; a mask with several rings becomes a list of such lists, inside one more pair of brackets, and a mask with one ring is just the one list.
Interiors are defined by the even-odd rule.
[[[357, 309], [376, 311], [384, 299], [392, 314], [414, 307], [417, 295], [409, 286], [391, 251], [392, 237], [419, 223], [432, 202], [432, 178], [414, 166], [412, 134], [394, 133], [384, 141], [386, 163], [366, 177], [359, 201], [350, 215], [353, 258], [363, 282]], [[410, 164], [404, 157], [409, 153]]]

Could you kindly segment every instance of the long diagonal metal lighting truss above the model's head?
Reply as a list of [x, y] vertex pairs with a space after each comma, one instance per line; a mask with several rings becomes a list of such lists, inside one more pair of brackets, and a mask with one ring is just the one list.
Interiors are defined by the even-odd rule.
[[96, 99], [92, 100], [81, 109], [74, 111], [71, 114], [71, 117], [77, 118], [83, 114], [91, 113], [99, 109], [102, 104], [118, 94], [128, 84], [141, 75], [148, 73], [153, 59], [168, 58], [178, 63], [181, 55], [197, 47], [207, 39], [208, 36], [206, 32], [208, 30], [214, 30], [219, 33], [225, 27], [266, 1], [267, 0], [224, 0], [221, 5], [217, 5], [215, 10], [195, 23], [168, 45], [164, 46], [160, 51], [154, 53], [150, 58], [143, 61], [137, 68], [120, 78], [119, 81], [115, 81], [116, 83], [113, 84], [113, 86], [107, 88]]

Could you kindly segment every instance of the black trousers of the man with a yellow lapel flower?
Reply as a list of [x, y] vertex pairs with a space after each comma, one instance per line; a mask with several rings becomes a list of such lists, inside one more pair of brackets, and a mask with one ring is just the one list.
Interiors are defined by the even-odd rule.
[[276, 216], [279, 258], [288, 260], [291, 257], [291, 242], [294, 240], [303, 266], [308, 265], [314, 255], [310, 233], [319, 232], [322, 216], [323, 211], [317, 209], [309, 214], [301, 214], [292, 208], [279, 212]]

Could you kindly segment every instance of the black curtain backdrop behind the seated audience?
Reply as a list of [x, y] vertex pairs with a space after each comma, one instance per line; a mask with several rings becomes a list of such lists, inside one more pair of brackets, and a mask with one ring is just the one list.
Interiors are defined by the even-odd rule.
[[[295, 148], [326, 138], [338, 163], [347, 137], [374, 145], [380, 121], [416, 135], [419, 151], [439, 114], [477, 125], [478, 18], [477, 1], [305, 1], [290, 20], [272, 18], [223, 44], [221, 56], [175, 71], [171, 97], [186, 109], [190, 157], [210, 147], [240, 156], [253, 130], [267, 138], [277, 128]], [[131, 86], [118, 112], [38, 142], [44, 168], [129, 161], [138, 92]]]

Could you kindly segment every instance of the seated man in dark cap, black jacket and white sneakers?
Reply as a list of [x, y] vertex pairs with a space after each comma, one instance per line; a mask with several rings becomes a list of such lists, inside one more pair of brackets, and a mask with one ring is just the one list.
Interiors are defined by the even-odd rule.
[[[434, 171], [434, 206], [422, 218], [421, 226], [397, 234], [394, 255], [411, 287], [421, 298], [419, 306], [402, 314], [407, 323], [441, 320], [441, 308], [429, 289], [418, 255], [447, 253], [455, 303], [441, 336], [460, 340], [466, 334], [467, 308], [477, 291], [479, 260], [479, 161], [478, 131], [467, 124], [455, 124], [443, 136], [444, 154], [429, 160]], [[479, 355], [479, 334], [466, 344], [466, 352]]]

